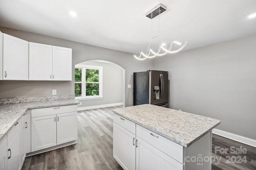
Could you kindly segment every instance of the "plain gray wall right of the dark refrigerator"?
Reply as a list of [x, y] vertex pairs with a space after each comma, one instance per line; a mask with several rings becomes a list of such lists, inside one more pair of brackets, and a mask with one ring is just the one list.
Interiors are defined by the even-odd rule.
[[256, 139], [256, 35], [158, 57], [154, 69], [169, 71], [170, 108]]

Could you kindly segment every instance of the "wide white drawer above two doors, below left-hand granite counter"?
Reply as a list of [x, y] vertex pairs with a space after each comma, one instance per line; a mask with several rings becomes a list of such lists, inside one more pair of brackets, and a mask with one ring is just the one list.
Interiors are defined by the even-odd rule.
[[47, 115], [54, 115], [59, 113], [68, 113], [73, 111], [77, 111], [77, 105], [31, 109], [31, 117], [47, 116]]

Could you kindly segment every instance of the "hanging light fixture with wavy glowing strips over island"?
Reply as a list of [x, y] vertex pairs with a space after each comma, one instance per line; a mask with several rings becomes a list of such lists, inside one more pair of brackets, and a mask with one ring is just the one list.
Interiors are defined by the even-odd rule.
[[[155, 18], [156, 16], [159, 16], [159, 25], [158, 25], [159, 26], [159, 32], [160, 32], [160, 14], [164, 11], [166, 11], [166, 7], [163, 4], [159, 4], [158, 6], [156, 6], [155, 8], [153, 8], [152, 10], [150, 10], [149, 12], [146, 13], [146, 17], [151, 19], [151, 24], [152, 24], [152, 19]], [[151, 34], [152, 34], [152, 27], [151, 27]], [[187, 44], [187, 41], [185, 41], [183, 44], [179, 43], [177, 41], [173, 41], [171, 46], [169, 48], [167, 48], [166, 44], [161, 39], [162, 44], [160, 45], [158, 51], [154, 52], [152, 49], [150, 49], [150, 44], [152, 42], [152, 39], [154, 39], [158, 36], [160, 36], [160, 33], [155, 37], [151, 37], [151, 40], [150, 40], [150, 43], [148, 45], [148, 50], [146, 51], [146, 54], [144, 54], [143, 52], [140, 52], [140, 55], [138, 57], [136, 55], [134, 55], [134, 57], [138, 60], [145, 60], [147, 58], [153, 58], [153, 57], [156, 57], [156, 56], [163, 56], [163, 55], [166, 55], [167, 53], [177, 53], [180, 50], [182, 50], [185, 47], [185, 45]], [[172, 51], [172, 47], [174, 46], [174, 44], [179, 45], [180, 48]]]

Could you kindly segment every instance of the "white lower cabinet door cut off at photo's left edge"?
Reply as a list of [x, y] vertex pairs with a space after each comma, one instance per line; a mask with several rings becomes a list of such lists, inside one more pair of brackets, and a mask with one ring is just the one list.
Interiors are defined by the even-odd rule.
[[7, 170], [7, 137], [0, 141], [0, 170]]

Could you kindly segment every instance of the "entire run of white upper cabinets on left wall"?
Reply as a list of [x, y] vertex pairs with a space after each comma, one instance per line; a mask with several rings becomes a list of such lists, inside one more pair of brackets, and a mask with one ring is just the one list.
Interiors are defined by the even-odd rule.
[[0, 31], [0, 80], [72, 80], [72, 49], [28, 42]]

